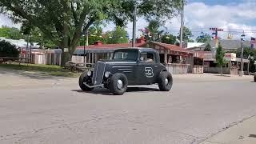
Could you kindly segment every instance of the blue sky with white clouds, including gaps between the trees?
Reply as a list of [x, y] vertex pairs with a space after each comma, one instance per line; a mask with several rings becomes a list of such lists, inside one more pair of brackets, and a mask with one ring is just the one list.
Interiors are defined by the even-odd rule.
[[[256, 37], [256, 0], [187, 0], [185, 6], [185, 26], [189, 27], [194, 38], [204, 34], [212, 34], [210, 27], [222, 28], [219, 33], [223, 39], [230, 33], [234, 39], [239, 39], [242, 31], [245, 31], [246, 39]], [[3, 14], [0, 14], [0, 26], [15, 26]], [[146, 27], [148, 23], [143, 18], [138, 18], [137, 30]], [[166, 21], [164, 30], [177, 35], [180, 27], [180, 18], [172, 18]], [[109, 24], [103, 30], [113, 30], [114, 24]], [[132, 23], [128, 23], [126, 30], [132, 35]], [[137, 33], [140, 36], [140, 33]]]

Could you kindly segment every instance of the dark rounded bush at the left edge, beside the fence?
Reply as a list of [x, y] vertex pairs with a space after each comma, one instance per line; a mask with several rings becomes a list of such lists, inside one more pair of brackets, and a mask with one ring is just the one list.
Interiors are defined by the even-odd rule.
[[19, 51], [10, 42], [0, 41], [0, 57], [18, 58]]

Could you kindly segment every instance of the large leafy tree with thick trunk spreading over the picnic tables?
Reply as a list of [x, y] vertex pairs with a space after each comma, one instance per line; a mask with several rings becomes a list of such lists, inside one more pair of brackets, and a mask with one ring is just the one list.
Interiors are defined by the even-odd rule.
[[[29, 22], [38, 27], [64, 51], [62, 65], [71, 59], [82, 34], [95, 22], [113, 21], [124, 26], [138, 5], [138, 16], [165, 21], [180, 9], [178, 0], [1, 0], [0, 7], [14, 22]], [[161, 9], [159, 9], [161, 7]]]

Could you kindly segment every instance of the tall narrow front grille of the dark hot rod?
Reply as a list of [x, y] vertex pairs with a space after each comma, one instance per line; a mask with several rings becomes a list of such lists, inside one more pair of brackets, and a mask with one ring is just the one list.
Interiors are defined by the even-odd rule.
[[100, 85], [102, 84], [102, 79], [105, 72], [105, 62], [96, 62], [94, 65], [94, 73], [93, 73], [93, 85]]

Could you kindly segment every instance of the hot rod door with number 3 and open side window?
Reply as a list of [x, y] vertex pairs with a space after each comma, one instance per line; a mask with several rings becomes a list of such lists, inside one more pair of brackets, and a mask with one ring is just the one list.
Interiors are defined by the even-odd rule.
[[158, 64], [155, 59], [155, 54], [150, 52], [141, 52], [136, 74], [138, 85], [149, 85], [154, 83], [156, 80], [157, 70]]

